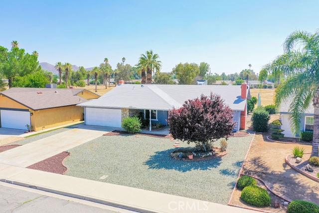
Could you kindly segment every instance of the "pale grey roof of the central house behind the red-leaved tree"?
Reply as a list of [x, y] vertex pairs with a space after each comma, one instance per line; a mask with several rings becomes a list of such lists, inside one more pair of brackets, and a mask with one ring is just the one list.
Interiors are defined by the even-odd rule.
[[79, 104], [84, 107], [133, 108], [170, 110], [179, 108], [186, 100], [210, 92], [221, 96], [233, 110], [244, 110], [246, 101], [241, 99], [241, 86], [217, 85], [132, 85], [115, 87], [99, 99]]

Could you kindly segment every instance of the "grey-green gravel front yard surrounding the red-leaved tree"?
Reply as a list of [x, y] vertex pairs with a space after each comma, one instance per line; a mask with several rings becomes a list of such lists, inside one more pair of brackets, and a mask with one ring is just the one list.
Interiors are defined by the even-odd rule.
[[229, 138], [222, 159], [185, 162], [169, 157], [168, 139], [102, 136], [69, 150], [64, 165], [69, 176], [227, 204], [252, 138]]

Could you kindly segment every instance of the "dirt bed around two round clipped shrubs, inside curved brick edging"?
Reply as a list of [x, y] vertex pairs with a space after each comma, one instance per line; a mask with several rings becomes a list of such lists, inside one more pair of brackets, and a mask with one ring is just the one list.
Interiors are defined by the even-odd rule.
[[[259, 187], [267, 190], [267, 188], [265, 187], [265, 185], [262, 182], [260, 182], [259, 180], [256, 180], [256, 181], [257, 181], [257, 184]], [[254, 209], [257, 211], [265, 211], [265, 212], [271, 212], [271, 213], [286, 213], [287, 207], [285, 207], [282, 204], [282, 200], [279, 197], [277, 197], [275, 194], [271, 193], [269, 190], [267, 190], [267, 192], [269, 193], [269, 195], [271, 197], [271, 201], [272, 201], [272, 204], [270, 207], [258, 208], [258, 207], [254, 207], [254, 206], [251, 206], [251, 205], [245, 203], [244, 201], [242, 201], [240, 199], [241, 191], [238, 190], [237, 188], [235, 189], [235, 191], [233, 193], [233, 197], [232, 197], [232, 200], [230, 202], [230, 205], [239, 206], [239, 207], [247, 208], [247, 209]], [[275, 202], [278, 202], [280, 204], [279, 208], [273, 207]]]

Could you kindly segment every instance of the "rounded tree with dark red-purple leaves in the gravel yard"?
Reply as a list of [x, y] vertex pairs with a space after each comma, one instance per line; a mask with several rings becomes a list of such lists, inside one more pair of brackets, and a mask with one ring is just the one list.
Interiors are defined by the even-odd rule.
[[168, 112], [170, 134], [174, 139], [199, 145], [203, 151], [210, 143], [232, 135], [235, 129], [232, 110], [219, 95], [185, 101], [179, 109]]

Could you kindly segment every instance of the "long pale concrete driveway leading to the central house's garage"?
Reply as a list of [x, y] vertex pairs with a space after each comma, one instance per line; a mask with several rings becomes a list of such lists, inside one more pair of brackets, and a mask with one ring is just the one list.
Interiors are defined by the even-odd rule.
[[115, 130], [110, 127], [85, 126], [61, 132], [0, 153], [0, 163], [28, 167]]

